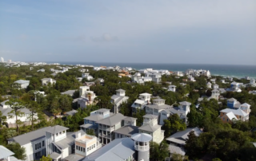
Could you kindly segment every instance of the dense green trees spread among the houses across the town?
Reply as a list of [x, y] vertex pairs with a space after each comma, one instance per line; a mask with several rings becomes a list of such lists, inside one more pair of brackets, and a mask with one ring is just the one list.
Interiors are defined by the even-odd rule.
[[[38, 69], [46, 69], [45, 73], [37, 72]], [[199, 127], [203, 129], [202, 135], [194, 137], [190, 134], [190, 138], [186, 143], [186, 155], [190, 159], [202, 159], [205, 155], [211, 155], [212, 158], [219, 158], [222, 160], [252, 160], [255, 158], [253, 151], [255, 148], [252, 143], [256, 141], [256, 96], [248, 93], [249, 90], [255, 90], [253, 87], [242, 88], [242, 92], [226, 92], [222, 96], [226, 98], [234, 97], [240, 103], [248, 103], [251, 105], [250, 120], [248, 122], [237, 121], [234, 124], [223, 124], [218, 118], [219, 111], [227, 108], [226, 100], [202, 100], [198, 104], [198, 98], [201, 96], [209, 96], [210, 89], [206, 88], [206, 77], [195, 77], [195, 82], [184, 81], [186, 77], [175, 78], [174, 76], [162, 76], [162, 83], [156, 84], [154, 82], [146, 82], [145, 84], [131, 83], [129, 77], [118, 77], [118, 72], [114, 71], [94, 71], [89, 69], [91, 76], [96, 80], [103, 78], [104, 84], [95, 81], [95, 85], [90, 87], [91, 91], [98, 96], [95, 99], [95, 104], [88, 106], [86, 109], [77, 109], [77, 104], [73, 104], [72, 100], [78, 98], [79, 93], [75, 92], [74, 96], [61, 95], [61, 92], [66, 90], [76, 89], [84, 85], [84, 81], [79, 82], [76, 77], [81, 77], [80, 68], [69, 69], [66, 73], [58, 73], [55, 77], [50, 75], [50, 69], [58, 69], [56, 65], [44, 65], [42, 67], [36, 66], [30, 71], [29, 66], [21, 66], [19, 68], [6, 68], [0, 65], [0, 95], [15, 96], [14, 99], [21, 100], [21, 104], [34, 112], [38, 112], [38, 124], [31, 124], [29, 126], [18, 126], [18, 128], [2, 128], [0, 131], [0, 143], [6, 145], [6, 139], [15, 135], [20, 135], [38, 128], [53, 126], [59, 124], [70, 128], [70, 132], [78, 131], [79, 126], [83, 124], [83, 118], [90, 116], [90, 112], [98, 108], [112, 108], [110, 104], [110, 96], [116, 93], [115, 90], [122, 88], [126, 90], [126, 96], [129, 100], [126, 104], [122, 104], [121, 112], [126, 116], [132, 116], [131, 105], [134, 100], [138, 99], [140, 93], [148, 92], [152, 96], [160, 96], [166, 100], [166, 104], [177, 106], [180, 101], [188, 101], [192, 103], [190, 113], [188, 114], [188, 127]], [[31, 77], [27, 77], [31, 76]], [[51, 77], [57, 82], [54, 85], [42, 86], [41, 79]], [[230, 84], [222, 84], [222, 77], [215, 77], [216, 83], [220, 88], [228, 88]], [[14, 81], [29, 80], [30, 85], [26, 89], [18, 90], [13, 86]], [[238, 82], [248, 83], [245, 80], [235, 80]], [[168, 85], [174, 84], [177, 86], [176, 92], [168, 92], [166, 88]], [[229, 82], [226, 80], [226, 82]], [[185, 84], [180, 84], [185, 83]], [[41, 94], [34, 95], [34, 91], [43, 91], [46, 96]], [[36, 104], [32, 103], [37, 100]], [[0, 100], [5, 100], [0, 97]], [[221, 103], [221, 104], [220, 104]], [[64, 114], [72, 108], [77, 109], [78, 113], [74, 116], [67, 116], [66, 118], [47, 117], [45, 113], [52, 113], [54, 116]], [[142, 124], [142, 116], [145, 112], [138, 112], [134, 117], [138, 118], [137, 125]], [[0, 117], [1, 113], [0, 113]], [[2, 118], [4, 120], [4, 118]], [[30, 116], [30, 120], [34, 121]], [[165, 130], [165, 136], [168, 137], [174, 132], [186, 129], [186, 124], [178, 118], [177, 115], [170, 116], [165, 120], [162, 126]], [[93, 135], [93, 134], [92, 134]], [[156, 149], [166, 149], [166, 143], [162, 145], [153, 145], [154, 155], [151, 159], [164, 159], [166, 153], [156, 151]], [[160, 147], [159, 147], [160, 146]], [[16, 148], [16, 147], [15, 147]], [[14, 149], [15, 149], [14, 148]], [[15, 151], [15, 150], [14, 150]], [[22, 151], [18, 149], [17, 151]], [[177, 156], [178, 158], [178, 156]]]

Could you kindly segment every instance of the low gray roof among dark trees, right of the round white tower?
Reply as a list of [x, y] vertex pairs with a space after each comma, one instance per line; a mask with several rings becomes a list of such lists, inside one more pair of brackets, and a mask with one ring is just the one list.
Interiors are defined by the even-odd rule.
[[174, 135], [170, 135], [166, 140], [174, 143], [185, 144], [186, 139], [191, 131], [194, 131], [194, 135], [198, 136], [202, 133], [200, 128], [186, 128], [186, 130], [181, 132], [176, 132]]

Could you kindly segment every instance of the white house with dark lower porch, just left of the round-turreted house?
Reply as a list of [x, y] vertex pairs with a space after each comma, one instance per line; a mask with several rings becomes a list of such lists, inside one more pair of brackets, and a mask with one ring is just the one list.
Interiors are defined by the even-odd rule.
[[139, 94], [138, 99], [131, 105], [132, 112], [136, 113], [138, 110], [144, 110], [146, 104], [150, 104], [150, 93]]

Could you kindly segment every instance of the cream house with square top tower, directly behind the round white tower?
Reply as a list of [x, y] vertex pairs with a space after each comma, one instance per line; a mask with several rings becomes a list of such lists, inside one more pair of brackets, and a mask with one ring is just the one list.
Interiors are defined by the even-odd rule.
[[161, 143], [164, 139], [164, 131], [161, 127], [162, 125], [158, 124], [158, 116], [147, 114], [143, 116], [143, 125], [138, 128], [138, 132], [149, 134], [153, 137], [152, 141]]

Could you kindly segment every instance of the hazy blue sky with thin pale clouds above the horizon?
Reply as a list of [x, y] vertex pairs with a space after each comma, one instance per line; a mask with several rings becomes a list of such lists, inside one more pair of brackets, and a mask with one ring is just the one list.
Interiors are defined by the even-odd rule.
[[256, 65], [256, 1], [2, 0], [0, 57]]

